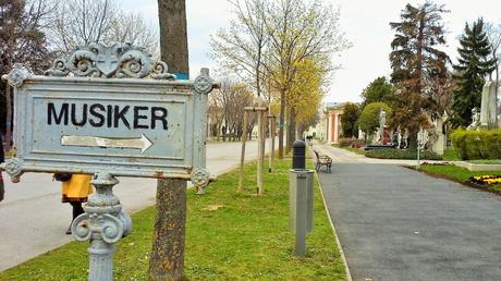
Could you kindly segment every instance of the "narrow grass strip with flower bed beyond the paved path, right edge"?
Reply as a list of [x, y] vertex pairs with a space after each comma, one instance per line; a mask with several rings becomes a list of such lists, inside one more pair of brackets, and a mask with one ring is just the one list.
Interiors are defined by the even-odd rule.
[[[428, 174], [435, 176], [441, 176], [454, 182], [465, 183], [468, 181], [469, 176], [475, 175], [488, 175], [488, 174], [501, 174], [501, 171], [478, 171], [472, 172], [465, 168], [456, 167], [453, 164], [447, 166], [420, 166], [419, 170], [426, 172]], [[493, 192], [493, 193], [501, 193], [501, 184], [493, 184], [493, 185], [486, 185], [482, 190]]]

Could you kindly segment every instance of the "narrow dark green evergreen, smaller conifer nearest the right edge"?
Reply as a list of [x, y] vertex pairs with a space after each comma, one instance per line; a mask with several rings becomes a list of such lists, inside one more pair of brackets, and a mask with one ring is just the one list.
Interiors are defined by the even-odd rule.
[[480, 107], [481, 88], [485, 77], [496, 68], [496, 61], [489, 59], [489, 40], [484, 21], [478, 19], [472, 26], [465, 24], [464, 34], [457, 48], [460, 58], [453, 68], [457, 72], [454, 78], [457, 87], [454, 90], [453, 109], [455, 125], [468, 125], [472, 120], [472, 109]]

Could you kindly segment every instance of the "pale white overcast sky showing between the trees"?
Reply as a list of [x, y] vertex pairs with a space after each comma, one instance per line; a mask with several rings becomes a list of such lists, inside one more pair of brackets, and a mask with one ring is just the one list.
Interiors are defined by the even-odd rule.
[[[273, 0], [270, 0], [273, 1]], [[400, 20], [406, 3], [417, 5], [424, 1], [403, 0], [326, 0], [341, 10], [341, 29], [353, 47], [341, 57], [339, 70], [330, 85], [325, 101], [359, 101], [362, 90], [376, 77], [391, 72], [388, 56], [394, 32], [390, 22]], [[501, 23], [501, 2], [499, 0], [441, 0], [451, 12], [443, 14], [448, 28], [445, 51], [456, 62], [457, 37], [463, 33], [465, 22], [472, 23], [482, 16], [485, 21]], [[152, 28], [158, 28], [156, 0], [120, 0], [122, 9], [140, 13]], [[203, 66], [213, 69], [216, 63], [208, 58], [209, 38], [219, 28], [228, 26], [232, 19], [227, 0], [186, 0], [190, 70], [195, 76]]]

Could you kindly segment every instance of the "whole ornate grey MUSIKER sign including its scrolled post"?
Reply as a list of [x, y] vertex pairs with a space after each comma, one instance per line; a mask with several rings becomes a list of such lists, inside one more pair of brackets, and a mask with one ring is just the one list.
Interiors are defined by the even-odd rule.
[[218, 84], [203, 69], [175, 81], [167, 64], [130, 44], [80, 47], [54, 61], [47, 76], [23, 65], [2, 78], [14, 87], [17, 155], [2, 168], [14, 182], [24, 172], [94, 174], [97, 193], [72, 224], [90, 241], [89, 280], [112, 280], [112, 253], [131, 220], [112, 194], [114, 176], [191, 180], [208, 184], [207, 94]]

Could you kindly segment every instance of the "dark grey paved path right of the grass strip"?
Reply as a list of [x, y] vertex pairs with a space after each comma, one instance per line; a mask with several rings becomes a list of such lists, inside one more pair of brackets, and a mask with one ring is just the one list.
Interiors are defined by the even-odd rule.
[[317, 146], [354, 280], [501, 280], [501, 197], [388, 161]]

